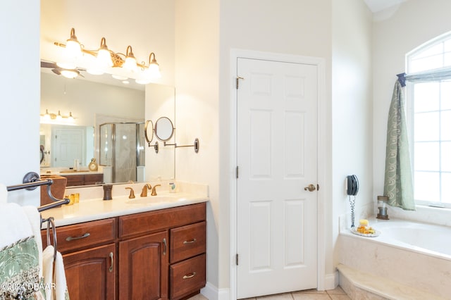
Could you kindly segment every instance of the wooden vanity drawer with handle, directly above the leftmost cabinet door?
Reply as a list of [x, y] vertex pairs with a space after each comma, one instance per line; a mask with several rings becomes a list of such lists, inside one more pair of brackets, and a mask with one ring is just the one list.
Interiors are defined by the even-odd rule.
[[[42, 244], [47, 246], [47, 230], [42, 230]], [[116, 219], [109, 218], [56, 228], [58, 251], [67, 253], [74, 249], [113, 242], [116, 239]], [[53, 243], [53, 241], [52, 241]]]

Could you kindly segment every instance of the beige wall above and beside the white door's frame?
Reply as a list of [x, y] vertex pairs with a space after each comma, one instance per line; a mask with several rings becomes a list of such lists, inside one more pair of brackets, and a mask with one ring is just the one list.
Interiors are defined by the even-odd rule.
[[[315, 56], [326, 61], [326, 102], [330, 104], [332, 1], [221, 1], [219, 74], [219, 287], [230, 287], [230, 186], [235, 180], [230, 161], [231, 49]], [[330, 116], [326, 116], [330, 118]], [[327, 196], [330, 201], [330, 196]], [[328, 266], [326, 273], [332, 269]]]

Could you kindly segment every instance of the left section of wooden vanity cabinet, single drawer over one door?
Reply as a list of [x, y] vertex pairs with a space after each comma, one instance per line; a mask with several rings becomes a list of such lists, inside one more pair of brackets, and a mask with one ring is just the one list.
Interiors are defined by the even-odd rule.
[[[70, 299], [116, 299], [116, 225], [109, 218], [56, 229]], [[42, 245], [47, 246], [47, 230]]]

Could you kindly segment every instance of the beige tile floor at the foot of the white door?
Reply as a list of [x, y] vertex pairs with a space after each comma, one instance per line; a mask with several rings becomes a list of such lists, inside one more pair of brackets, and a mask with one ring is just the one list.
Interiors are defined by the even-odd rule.
[[[328, 291], [317, 291], [316, 289], [307, 289], [305, 291], [291, 292], [286, 294], [276, 294], [271, 296], [259, 296], [257, 298], [248, 298], [245, 300], [350, 300], [341, 287], [330, 289]], [[188, 300], [208, 300], [202, 294], [197, 294]], [[244, 299], [243, 299], [244, 300]]]

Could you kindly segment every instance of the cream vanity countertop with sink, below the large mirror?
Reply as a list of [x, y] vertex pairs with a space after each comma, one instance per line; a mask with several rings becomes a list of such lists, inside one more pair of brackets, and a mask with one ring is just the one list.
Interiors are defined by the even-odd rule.
[[[112, 200], [103, 200], [104, 190], [101, 185], [66, 189], [66, 194], [80, 193], [80, 203], [42, 211], [42, 218], [54, 217], [55, 225], [63, 226], [209, 201], [206, 185], [178, 182], [178, 192], [169, 193], [168, 182], [150, 184], [152, 187], [161, 185], [156, 187], [157, 196], [151, 196], [149, 191], [147, 197], [140, 197], [144, 182], [113, 185]], [[128, 198], [130, 190], [125, 187], [132, 187], [135, 199]], [[136, 202], [132, 203], [133, 200]]]

